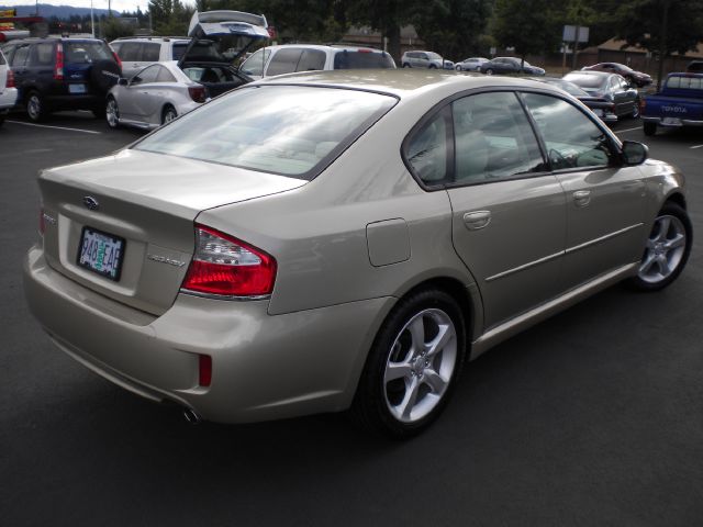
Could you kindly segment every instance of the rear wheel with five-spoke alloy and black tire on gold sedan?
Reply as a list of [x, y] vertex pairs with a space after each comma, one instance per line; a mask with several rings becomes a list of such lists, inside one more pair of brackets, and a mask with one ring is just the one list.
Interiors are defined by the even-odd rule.
[[[411, 323], [422, 327], [423, 344], [436, 340], [440, 327], [449, 337], [436, 352], [431, 347], [411, 346], [417, 336], [411, 330], [417, 326]], [[465, 327], [459, 305], [442, 290], [425, 289], [401, 300], [373, 340], [352, 404], [353, 418], [365, 428], [398, 439], [412, 437], [429, 426], [449, 401], [461, 371], [466, 355]], [[413, 352], [417, 349], [422, 354]], [[403, 373], [387, 380], [391, 362], [400, 365]], [[403, 408], [408, 406], [411, 411], [417, 410], [415, 416], [409, 412], [404, 417]]]

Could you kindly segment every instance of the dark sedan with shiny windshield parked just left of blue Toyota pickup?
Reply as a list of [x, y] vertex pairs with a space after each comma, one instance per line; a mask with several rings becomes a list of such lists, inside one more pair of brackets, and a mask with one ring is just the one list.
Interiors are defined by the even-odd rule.
[[618, 119], [639, 116], [639, 92], [617, 74], [571, 71], [563, 76], [563, 80], [573, 82], [591, 97], [607, 101], [610, 113]]

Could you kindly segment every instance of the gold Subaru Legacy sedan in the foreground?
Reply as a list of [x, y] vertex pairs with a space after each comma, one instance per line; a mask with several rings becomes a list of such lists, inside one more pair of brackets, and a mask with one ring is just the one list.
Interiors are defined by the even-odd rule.
[[59, 349], [191, 419], [350, 410], [408, 437], [466, 360], [677, 279], [683, 177], [647, 157], [544, 82], [271, 78], [43, 171], [25, 291]]

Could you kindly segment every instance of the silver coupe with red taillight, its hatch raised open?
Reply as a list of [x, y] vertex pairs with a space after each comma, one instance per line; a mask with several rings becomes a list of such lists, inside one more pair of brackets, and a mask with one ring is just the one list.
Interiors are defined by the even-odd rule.
[[112, 87], [105, 117], [112, 128], [126, 124], [153, 130], [194, 110], [207, 99], [205, 87], [191, 80], [177, 61], [152, 64]]

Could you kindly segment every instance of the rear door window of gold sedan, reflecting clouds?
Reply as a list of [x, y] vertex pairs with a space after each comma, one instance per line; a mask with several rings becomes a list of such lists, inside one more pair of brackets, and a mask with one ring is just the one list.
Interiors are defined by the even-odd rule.
[[455, 182], [486, 183], [546, 169], [539, 144], [515, 93], [465, 97], [451, 104], [451, 113]]

